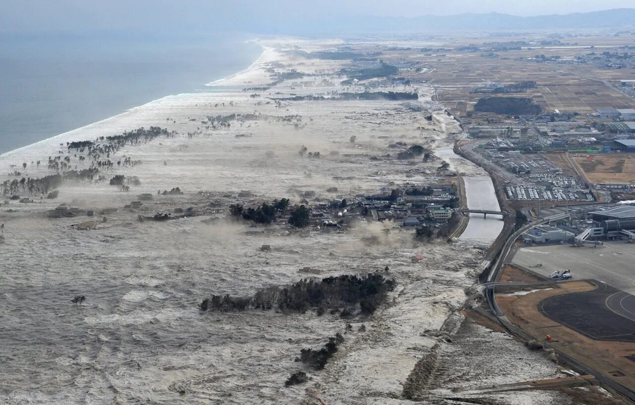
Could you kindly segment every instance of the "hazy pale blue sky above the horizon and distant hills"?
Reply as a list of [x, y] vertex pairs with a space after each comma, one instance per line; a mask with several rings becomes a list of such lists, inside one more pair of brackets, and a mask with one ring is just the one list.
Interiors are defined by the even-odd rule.
[[375, 15], [416, 17], [459, 13], [529, 16], [632, 8], [634, 0], [3, 0], [0, 32], [90, 30], [249, 30], [267, 18], [290, 19]]

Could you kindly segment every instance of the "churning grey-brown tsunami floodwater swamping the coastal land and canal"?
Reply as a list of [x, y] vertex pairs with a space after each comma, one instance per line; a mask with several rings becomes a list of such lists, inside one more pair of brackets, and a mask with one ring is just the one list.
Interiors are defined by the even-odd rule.
[[[365, 214], [345, 216], [341, 229], [232, 218], [231, 204], [352, 206], [413, 185], [455, 185], [457, 173], [469, 208], [498, 209], [483, 169], [451, 152], [462, 128], [428, 84], [346, 84], [342, 69], [358, 65], [298, 53], [337, 50], [332, 43], [265, 45], [215, 91], [166, 96], [0, 156], [10, 191], [0, 206], [0, 403], [569, 404], [554, 391], [501, 401], [479, 388], [561, 375], [544, 354], [464, 316], [479, 305], [470, 291], [485, 260], [479, 247], [502, 228], [495, 216], [472, 215], [451, 243]], [[354, 46], [377, 55], [384, 45]], [[350, 96], [389, 91], [410, 97]], [[110, 148], [109, 136], [140, 127], [165, 132]], [[398, 158], [413, 145], [431, 154]], [[57, 197], [20, 183], [97, 159], [94, 178], [67, 176]], [[166, 213], [177, 218], [153, 220]], [[199, 307], [212, 295], [368, 273], [394, 281], [370, 313]], [[336, 334], [344, 342], [324, 368], [299, 361]], [[286, 386], [298, 372], [307, 380]]]

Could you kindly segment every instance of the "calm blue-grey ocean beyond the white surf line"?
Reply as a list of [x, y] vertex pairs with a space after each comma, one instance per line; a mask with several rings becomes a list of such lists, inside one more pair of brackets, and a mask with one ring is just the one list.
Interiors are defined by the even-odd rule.
[[246, 69], [241, 35], [0, 36], [0, 154]]

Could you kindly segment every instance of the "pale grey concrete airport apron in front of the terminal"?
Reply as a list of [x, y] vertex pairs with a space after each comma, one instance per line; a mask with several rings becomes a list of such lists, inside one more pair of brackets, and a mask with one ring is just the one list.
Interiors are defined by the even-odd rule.
[[[595, 279], [635, 295], [635, 244], [605, 242], [604, 246], [573, 248], [568, 244], [520, 248], [512, 263], [544, 277], [570, 269], [573, 280]], [[542, 263], [542, 267], [531, 267]]]

